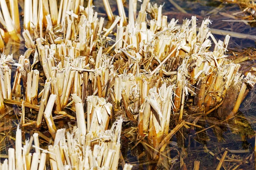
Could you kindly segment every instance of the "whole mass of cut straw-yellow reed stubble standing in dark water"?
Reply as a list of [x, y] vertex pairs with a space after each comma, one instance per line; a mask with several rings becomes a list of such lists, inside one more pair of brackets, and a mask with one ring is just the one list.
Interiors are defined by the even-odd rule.
[[[135, 131], [134, 147], [144, 148], [141, 158], [148, 155], [148, 161], [167, 169], [179, 162], [178, 167], [186, 169], [188, 130], [197, 135], [225, 122], [236, 133], [236, 125], [245, 125], [237, 115], [256, 83], [255, 71], [245, 76], [238, 63], [227, 59], [229, 35], [216, 40], [209, 18], [198, 30], [195, 16], [182, 25], [175, 19], [168, 23], [163, 6], [149, 0], [143, 1], [138, 14], [130, 0], [128, 18], [122, 1], [116, 2], [115, 17], [108, 1], [103, 3], [112, 21], [109, 28], [91, 1], [85, 8], [79, 0], [61, 0], [59, 6], [56, 0], [25, 0], [22, 35], [27, 50], [17, 62], [12, 55], [0, 58], [0, 108], [7, 114], [17, 105], [21, 128], [17, 127], [15, 149], [9, 148], [2, 167], [117, 169], [120, 157], [122, 168], [129, 170], [132, 165], [124, 163], [120, 152], [123, 119]], [[14, 30], [18, 35], [19, 28]], [[203, 128], [207, 118], [215, 122]], [[75, 126], [65, 130], [58, 126], [60, 120], [75, 121]], [[36, 132], [30, 140], [23, 139], [22, 147], [21, 131], [26, 129]], [[49, 137], [40, 132], [44, 129]], [[38, 136], [48, 141], [47, 148]], [[169, 143], [174, 136], [181, 139], [176, 144], [180, 152], [171, 158]], [[230, 151], [223, 152], [217, 169]], [[199, 167], [200, 161], [195, 161], [195, 169]]]

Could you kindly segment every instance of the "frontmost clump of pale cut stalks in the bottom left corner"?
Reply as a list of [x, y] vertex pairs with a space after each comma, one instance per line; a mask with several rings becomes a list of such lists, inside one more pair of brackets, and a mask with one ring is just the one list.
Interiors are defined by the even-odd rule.
[[[0, 167], [5, 170], [44, 170], [50, 164], [48, 169], [51, 170], [117, 170], [121, 130], [122, 119], [114, 122], [110, 130], [102, 130], [97, 134], [89, 132], [86, 136], [81, 136], [80, 129], [76, 127], [71, 133], [59, 129], [54, 144], [43, 149], [38, 143], [38, 133], [34, 133], [22, 146], [21, 129], [17, 127], [15, 149], [9, 148], [8, 159], [0, 163]], [[32, 147], [35, 148], [33, 155]], [[131, 170], [131, 167], [130, 164], [124, 166], [127, 170]]]

